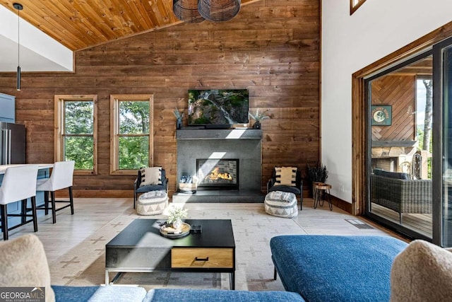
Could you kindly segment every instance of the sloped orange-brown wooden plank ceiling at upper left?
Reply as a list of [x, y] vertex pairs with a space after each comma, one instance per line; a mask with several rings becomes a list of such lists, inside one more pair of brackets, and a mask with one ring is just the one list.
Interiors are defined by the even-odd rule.
[[17, 13], [15, 2], [21, 18], [73, 51], [181, 23], [172, 0], [0, 0]]

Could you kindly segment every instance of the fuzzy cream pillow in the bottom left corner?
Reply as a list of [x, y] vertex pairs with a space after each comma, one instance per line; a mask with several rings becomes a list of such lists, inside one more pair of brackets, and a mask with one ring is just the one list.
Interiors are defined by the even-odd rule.
[[47, 257], [37, 236], [28, 234], [0, 243], [0, 255], [0, 286], [45, 287], [45, 301], [55, 301]]

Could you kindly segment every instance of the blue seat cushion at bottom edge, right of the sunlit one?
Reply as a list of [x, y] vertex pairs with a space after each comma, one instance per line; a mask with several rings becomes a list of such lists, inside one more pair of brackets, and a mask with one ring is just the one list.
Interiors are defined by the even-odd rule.
[[143, 302], [303, 302], [299, 294], [287, 291], [227, 291], [218, 289], [151, 289]]

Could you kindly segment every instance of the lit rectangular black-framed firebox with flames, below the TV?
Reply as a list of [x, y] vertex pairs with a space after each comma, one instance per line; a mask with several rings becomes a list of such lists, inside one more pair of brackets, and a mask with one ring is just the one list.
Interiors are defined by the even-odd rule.
[[197, 158], [198, 190], [239, 190], [239, 160]]

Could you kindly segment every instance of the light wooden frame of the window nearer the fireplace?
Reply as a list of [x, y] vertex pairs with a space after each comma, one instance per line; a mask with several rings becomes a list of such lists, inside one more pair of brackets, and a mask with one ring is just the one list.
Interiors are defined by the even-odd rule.
[[136, 175], [135, 170], [119, 170], [119, 102], [149, 102], [149, 163], [154, 165], [154, 95], [153, 94], [117, 94], [110, 95], [110, 175]]

